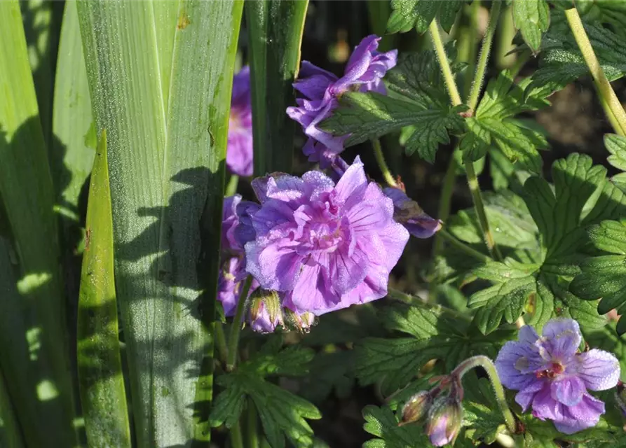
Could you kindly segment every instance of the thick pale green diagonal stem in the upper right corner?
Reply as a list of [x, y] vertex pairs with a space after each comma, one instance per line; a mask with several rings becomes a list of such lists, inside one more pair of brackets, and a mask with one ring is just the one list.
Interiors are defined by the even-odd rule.
[[[604, 70], [602, 70], [600, 66], [600, 62], [594, 53], [585, 27], [583, 27], [583, 22], [580, 20], [580, 15], [578, 15], [578, 10], [576, 8], [566, 10], [565, 17], [576, 39], [576, 43], [578, 43], [578, 48], [580, 48], [580, 52], [583, 53], [583, 58], [585, 58], [585, 62], [587, 62], [587, 66], [591, 71], [591, 76], [598, 88], [600, 97], [606, 102], [608, 109], [611, 109], [615, 117], [615, 132], [624, 135], [626, 132], [626, 111], [624, 111], [618, 96], [615, 94], [611, 83], [608, 82]], [[609, 118], [609, 120], [611, 120], [611, 118]], [[611, 124], [613, 124], [612, 121]]]

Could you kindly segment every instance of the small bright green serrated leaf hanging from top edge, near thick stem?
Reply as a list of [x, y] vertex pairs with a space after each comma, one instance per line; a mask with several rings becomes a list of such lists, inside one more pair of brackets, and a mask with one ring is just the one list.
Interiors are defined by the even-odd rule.
[[533, 53], [541, 45], [541, 35], [550, 27], [550, 8], [545, 0], [513, 0], [513, 21]]

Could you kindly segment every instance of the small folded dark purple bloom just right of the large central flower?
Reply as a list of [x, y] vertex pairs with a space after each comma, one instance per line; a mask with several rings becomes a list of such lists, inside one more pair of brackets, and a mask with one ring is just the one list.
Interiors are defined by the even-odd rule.
[[442, 222], [430, 218], [399, 188], [385, 188], [383, 193], [393, 201], [393, 218], [416, 238], [430, 238], [440, 230]]

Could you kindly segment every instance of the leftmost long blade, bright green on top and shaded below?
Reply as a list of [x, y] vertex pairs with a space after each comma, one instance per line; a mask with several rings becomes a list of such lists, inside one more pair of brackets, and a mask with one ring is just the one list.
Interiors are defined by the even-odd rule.
[[0, 2], [0, 369], [25, 442], [76, 445], [48, 167], [18, 0]]

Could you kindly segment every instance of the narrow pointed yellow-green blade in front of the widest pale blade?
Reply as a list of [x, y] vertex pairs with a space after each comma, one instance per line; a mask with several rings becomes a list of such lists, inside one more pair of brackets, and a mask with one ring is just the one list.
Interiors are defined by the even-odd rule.
[[120, 356], [107, 134], [98, 142], [87, 206], [78, 318], [81, 403], [91, 447], [130, 447]]

